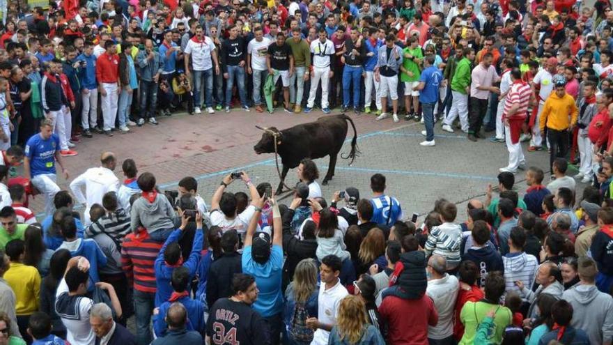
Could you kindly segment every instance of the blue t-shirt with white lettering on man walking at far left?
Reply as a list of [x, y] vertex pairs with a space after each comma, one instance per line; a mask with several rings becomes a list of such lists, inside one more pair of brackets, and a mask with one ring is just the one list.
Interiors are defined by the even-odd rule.
[[26, 143], [26, 157], [30, 160], [32, 177], [41, 174], [55, 174], [55, 151], [60, 147], [60, 139], [52, 134], [45, 140], [40, 133], [33, 135]]

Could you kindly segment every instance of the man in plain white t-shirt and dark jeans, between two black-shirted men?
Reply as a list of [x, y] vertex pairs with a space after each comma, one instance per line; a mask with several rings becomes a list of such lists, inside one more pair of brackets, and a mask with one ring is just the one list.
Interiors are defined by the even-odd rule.
[[262, 26], [254, 28], [254, 39], [247, 45], [247, 73], [253, 75], [254, 105], [258, 113], [264, 112], [262, 108], [261, 86], [268, 76], [266, 56], [271, 40], [264, 37]]

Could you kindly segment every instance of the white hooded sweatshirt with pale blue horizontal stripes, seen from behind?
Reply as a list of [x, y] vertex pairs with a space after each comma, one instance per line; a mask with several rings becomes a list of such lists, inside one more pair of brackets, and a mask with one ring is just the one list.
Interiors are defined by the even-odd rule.
[[[520, 289], [515, 282], [521, 280], [525, 286], [534, 284], [536, 276], [536, 268], [538, 261], [534, 255], [521, 253], [509, 253], [502, 256], [504, 263], [504, 282], [506, 284], [506, 293], [515, 291], [520, 294]], [[525, 299], [523, 299], [525, 301]]]

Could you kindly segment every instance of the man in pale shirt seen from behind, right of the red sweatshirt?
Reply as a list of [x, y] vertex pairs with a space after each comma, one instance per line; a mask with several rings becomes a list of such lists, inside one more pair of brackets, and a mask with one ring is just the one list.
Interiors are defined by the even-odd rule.
[[438, 312], [438, 323], [428, 326], [430, 344], [453, 343], [453, 310], [458, 297], [460, 284], [455, 275], [449, 275], [447, 260], [444, 256], [433, 255], [428, 259], [428, 287], [426, 294], [432, 298]]

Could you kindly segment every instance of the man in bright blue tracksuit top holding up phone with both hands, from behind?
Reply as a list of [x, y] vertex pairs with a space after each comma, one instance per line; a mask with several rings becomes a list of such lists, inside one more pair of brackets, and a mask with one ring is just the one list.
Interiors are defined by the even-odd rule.
[[155, 284], [157, 284], [157, 291], [155, 292], [155, 307], [160, 307], [163, 302], [166, 302], [171, 298], [173, 293], [172, 286], [170, 284], [173, 270], [178, 267], [185, 267], [189, 270], [189, 277], [194, 277], [196, 274], [196, 268], [198, 268], [198, 262], [200, 261], [203, 231], [202, 231], [202, 215], [196, 213], [196, 235], [194, 236], [194, 243], [192, 244], [192, 252], [189, 253], [187, 260], [183, 261], [181, 256], [181, 247], [178, 244], [178, 240], [183, 236], [183, 230], [187, 227], [189, 217], [181, 217], [181, 226], [179, 229], [173, 231], [166, 239], [166, 242], [160, 249], [160, 254], [157, 254], [155, 259]]

